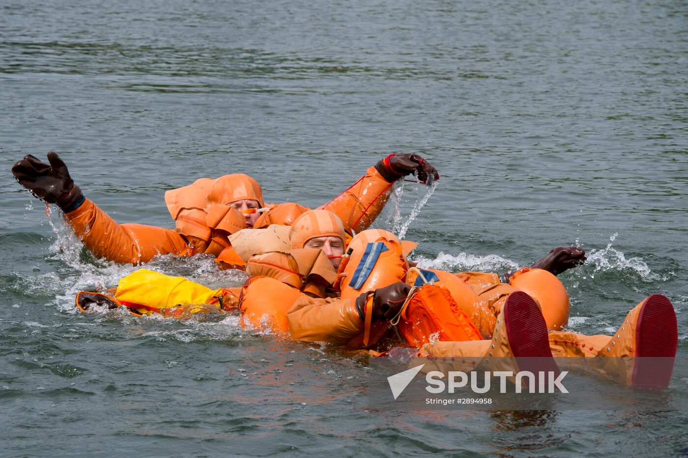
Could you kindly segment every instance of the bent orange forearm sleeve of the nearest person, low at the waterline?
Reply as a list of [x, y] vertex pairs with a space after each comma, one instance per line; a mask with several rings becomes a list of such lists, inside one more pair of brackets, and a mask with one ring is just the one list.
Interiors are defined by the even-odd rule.
[[345, 344], [363, 332], [356, 299], [301, 296], [287, 312], [294, 340]]

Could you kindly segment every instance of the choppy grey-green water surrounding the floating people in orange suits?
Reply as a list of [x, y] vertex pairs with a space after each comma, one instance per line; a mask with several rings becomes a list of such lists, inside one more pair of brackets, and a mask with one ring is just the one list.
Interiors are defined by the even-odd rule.
[[[501, 270], [579, 244], [571, 327], [654, 292], [688, 353], [682, 1], [45, 1], [0, 6], [0, 455], [671, 455], [683, 413], [367, 411], [367, 360], [204, 322], [80, 314], [133, 268], [81, 252], [9, 169], [63, 155], [118, 221], [171, 227], [164, 190], [243, 172], [316, 206], [390, 151], [424, 265]], [[55, 229], [51, 226], [54, 221]], [[208, 259], [149, 268], [235, 285]]]

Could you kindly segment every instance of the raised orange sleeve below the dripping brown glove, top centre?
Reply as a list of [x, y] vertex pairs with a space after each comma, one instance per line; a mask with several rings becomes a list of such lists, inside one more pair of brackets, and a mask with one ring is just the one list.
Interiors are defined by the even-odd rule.
[[373, 166], [353, 186], [318, 209], [335, 213], [343, 221], [346, 230], [361, 232], [369, 228], [380, 215], [393, 184], [385, 181]]

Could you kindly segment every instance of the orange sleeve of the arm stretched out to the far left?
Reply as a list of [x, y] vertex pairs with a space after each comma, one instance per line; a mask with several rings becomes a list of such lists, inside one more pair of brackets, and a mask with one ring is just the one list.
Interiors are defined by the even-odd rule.
[[76, 236], [96, 257], [136, 265], [156, 254], [191, 256], [193, 250], [178, 232], [143, 224], [118, 224], [89, 199], [65, 213]]

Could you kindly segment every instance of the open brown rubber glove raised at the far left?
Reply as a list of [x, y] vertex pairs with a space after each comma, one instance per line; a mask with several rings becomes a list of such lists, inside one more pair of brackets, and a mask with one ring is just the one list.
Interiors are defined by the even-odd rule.
[[67, 166], [54, 151], [47, 153], [50, 164], [41, 162], [33, 155], [26, 155], [12, 166], [12, 175], [21, 186], [47, 202], [57, 204], [65, 212], [76, 210], [83, 204], [81, 189], [74, 185]]

